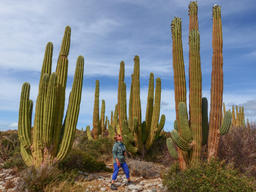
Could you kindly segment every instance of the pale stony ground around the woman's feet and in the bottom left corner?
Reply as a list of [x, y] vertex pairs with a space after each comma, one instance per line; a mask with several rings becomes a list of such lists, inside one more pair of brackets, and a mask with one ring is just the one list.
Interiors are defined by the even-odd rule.
[[[113, 165], [112, 165], [113, 166]], [[111, 165], [109, 164], [109, 168]], [[17, 172], [12, 169], [2, 169], [0, 171], [0, 191], [15, 191], [16, 182], [19, 179]], [[162, 179], [157, 178], [142, 178], [142, 177], [130, 177], [136, 185], [127, 186], [128, 180], [125, 177], [123, 170], [120, 169], [119, 175], [115, 181], [118, 192], [162, 192], [165, 188], [162, 184]], [[99, 192], [112, 192], [115, 190], [110, 189], [112, 179], [112, 172], [94, 172], [87, 173], [79, 171], [79, 175], [76, 177], [76, 182], [85, 187], [85, 192], [99, 191]], [[13, 188], [5, 189], [6, 183], [13, 183]]]

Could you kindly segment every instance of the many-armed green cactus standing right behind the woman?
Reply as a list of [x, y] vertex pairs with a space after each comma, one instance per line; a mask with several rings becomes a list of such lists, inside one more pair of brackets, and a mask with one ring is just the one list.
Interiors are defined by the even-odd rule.
[[161, 116], [161, 119], [159, 121], [161, 79], [159, 77], [156, 79], [154, 102], [154, 75], [153, 73], [150, 74], [146, 121], [143, 121], [142, 123], [140, 105], [140, 58], [138, 55], [136, 55], [134, 58], [134, 69], [132, 74], [131, 93], [129, 101], [129, 119], [127, 119], [124, 62], [120, 63], [119, 83], [119, 122], [117, 122], [117, 127], [119, 128], [119, 131], [117, 130], [117, 132], [120, 132], [123, 135], [123, 140], [127, 150], [133, 156], [140, 156], [140, 158], [143, 159], [145, 157], [146, 150], [151, 147], [153, 141], [156, 140], [156, 138], [159, 136], [165, 123], [164, 115]]

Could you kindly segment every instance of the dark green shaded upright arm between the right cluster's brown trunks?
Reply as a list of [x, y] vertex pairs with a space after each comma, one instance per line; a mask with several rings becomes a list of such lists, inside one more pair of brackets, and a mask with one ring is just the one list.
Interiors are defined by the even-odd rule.
[[207, 143], [209, 131], [209, 124], [208, 124], [208, 101], [206, 97], [202, 98], [202, 146]]

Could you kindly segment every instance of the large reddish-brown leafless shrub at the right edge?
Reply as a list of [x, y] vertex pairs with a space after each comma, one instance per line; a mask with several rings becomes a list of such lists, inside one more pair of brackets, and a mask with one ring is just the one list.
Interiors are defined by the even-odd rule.
[[232, 163], [241, 173], [256, 177], [256, 123], [232, 127], [220, 137], [218, 157]]

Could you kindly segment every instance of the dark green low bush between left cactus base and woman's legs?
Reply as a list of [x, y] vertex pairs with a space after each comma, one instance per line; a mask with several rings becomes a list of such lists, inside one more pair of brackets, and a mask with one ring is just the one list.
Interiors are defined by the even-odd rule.
[[67, 168], [68, 171], [72, 169], [89, 172], [102, 170], [109, 171], [103, 161], [98, 161], [96, 158], [91, 156], [89, 152], [84, 152], [76, 148], [71, 149], [68, 157], [61, 162], [59, 166], [62, 169]]

